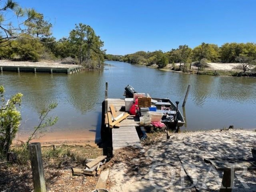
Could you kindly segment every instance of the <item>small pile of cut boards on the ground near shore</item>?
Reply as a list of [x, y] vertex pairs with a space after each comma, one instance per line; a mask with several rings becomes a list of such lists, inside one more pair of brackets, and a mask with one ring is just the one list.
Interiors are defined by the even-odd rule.
[[104, 165], [107, 161], [107, 156], [98, 156], [96, 159], [93, 159], [89, 163], [85, 165], [84, 169], [81, 168], [72, 168], [73, 175], [100, 175], [102, 171], [102, 165]]

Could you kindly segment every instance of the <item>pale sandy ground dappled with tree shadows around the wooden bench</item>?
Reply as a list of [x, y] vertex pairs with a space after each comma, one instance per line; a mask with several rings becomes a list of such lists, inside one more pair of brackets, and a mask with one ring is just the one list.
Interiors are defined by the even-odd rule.
[[[252, 158], [256, 132], [244, 130], [172, 134], [143, 154], [124, 154], [110, 172], [111, 192], [219, 191], [223, 172], [210, 170], [204, 158]], [[129, 158], [130, 156], [133, 156]], [[128, 159], [128, 160], [127, 160]], [[256, 171], [236, 172], [236, 191], [256, 191]], [[181, 185], [184, 178], [184, 189]], [[191, 179], [189, 179], [191, 178]], [[194, 187], [189, 187], [192, 184]]]

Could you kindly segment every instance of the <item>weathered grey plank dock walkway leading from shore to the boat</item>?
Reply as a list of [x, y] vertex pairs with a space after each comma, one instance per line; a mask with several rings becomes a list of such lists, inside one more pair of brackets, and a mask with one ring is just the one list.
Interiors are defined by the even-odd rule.
[[[116, 108], [117, 115], [124, 113], [124, 99], [107, 99], [108, 111], [110, 111], [110, 104], [114, 105]], [[112, 147], [113, 154], [116, 149], [123, 147], [136, 147], [141, 148], [140, 138], [136, 131], [136, 127], [139, 125], [140, 121], [138, 117], [129, 116], [120, 122], [119, 128], [112, 128]]]

